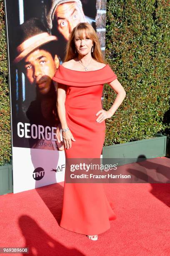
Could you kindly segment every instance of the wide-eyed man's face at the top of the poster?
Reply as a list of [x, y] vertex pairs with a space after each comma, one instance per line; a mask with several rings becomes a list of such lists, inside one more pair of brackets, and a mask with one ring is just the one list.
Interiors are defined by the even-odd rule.
[[72, 29], [80, 22], [85, 22], [85, 15], [76, 2], [63, 3], [55, 9], [53, 27], [56, 27], [66, 41]]

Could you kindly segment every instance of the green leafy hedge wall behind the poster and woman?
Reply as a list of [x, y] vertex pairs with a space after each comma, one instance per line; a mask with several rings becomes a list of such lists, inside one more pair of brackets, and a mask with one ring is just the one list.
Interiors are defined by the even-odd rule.
[[[126, 97], [106, 120], [105, 146], [169, 133], [169, 7], [165, 0], [109, 0], [106, 59], [125, 88]], [[10, 100], [3, 1], [0, 0], [0, 165], [9, 162]], [[108, 84], [104, 109], [116, 95]], [[166, 116], [166, 118], [165, 118]]]

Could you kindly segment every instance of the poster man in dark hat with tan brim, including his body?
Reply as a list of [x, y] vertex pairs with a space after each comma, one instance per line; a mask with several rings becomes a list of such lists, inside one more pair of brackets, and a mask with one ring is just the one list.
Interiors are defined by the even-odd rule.
[[25, 74], [30, 86], [36, 87], [36, 100], [26, 114], [30, 124], [57, 127], [57, 141], [30, 138], [30, 148], [63, 150], [60, 121], [56, 108], [56, 88], [52, 82], [60, 61], [56, 52], [57, 37], [51, 36], [37, 18], [21, 24], [16, 31], [17, 46], [13, 63]]

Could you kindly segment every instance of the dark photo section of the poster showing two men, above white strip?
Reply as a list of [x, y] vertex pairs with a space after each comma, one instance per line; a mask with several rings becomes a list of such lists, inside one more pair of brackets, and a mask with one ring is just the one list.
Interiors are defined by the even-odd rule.
[[98, 30], [104, 50], [105, 19], [96, 0], [5, 0], [5, 9], [13, 146], [63, 151], [52, 77], [78, 23]]

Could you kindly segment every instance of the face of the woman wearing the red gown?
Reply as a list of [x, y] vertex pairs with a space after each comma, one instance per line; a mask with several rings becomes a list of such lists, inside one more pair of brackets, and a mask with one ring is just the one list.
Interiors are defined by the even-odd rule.
[[83, 39], [81, 39], [79, 36], [75, 36], [75, 47], [80, 55], [86, 55], [89, 52], [91, 53], [91, 49], [93, 46], [93, 41], [86, 36], [85, 31], [83, 32]]

